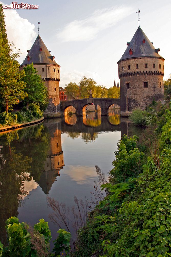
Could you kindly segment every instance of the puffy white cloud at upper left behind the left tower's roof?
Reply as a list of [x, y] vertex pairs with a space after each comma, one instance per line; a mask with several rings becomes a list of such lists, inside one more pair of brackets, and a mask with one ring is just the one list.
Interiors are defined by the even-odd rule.
[[13, 41], [16, 48], [23, 53], [19, 58], [19, 62], [23, 62], [27, 48], [32, 46], [32, 40], [36, 37], [35, 25], [20, 17], [15, 10], [4, 9], [4, 14], [8, 40]]

